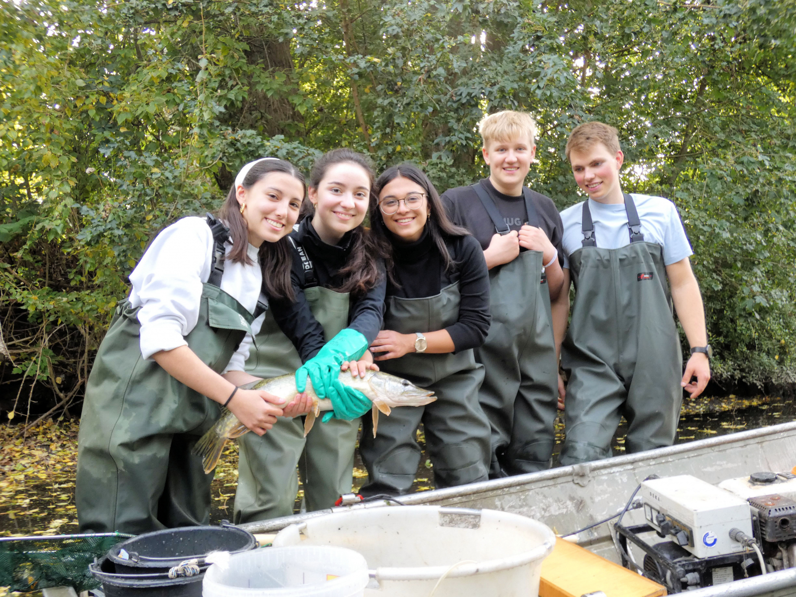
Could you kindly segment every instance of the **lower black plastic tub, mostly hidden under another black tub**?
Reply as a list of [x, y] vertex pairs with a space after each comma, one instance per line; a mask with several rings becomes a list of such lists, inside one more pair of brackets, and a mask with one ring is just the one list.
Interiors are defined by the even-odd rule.
[[168, 572], [119, 572], [107, 556], [88, 565], [94, 578], [102, 583], [105, 597], [201, 597], [205, 572], [195, 576], [170, 579]]

